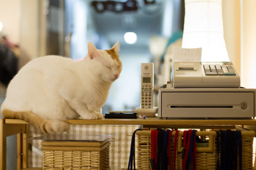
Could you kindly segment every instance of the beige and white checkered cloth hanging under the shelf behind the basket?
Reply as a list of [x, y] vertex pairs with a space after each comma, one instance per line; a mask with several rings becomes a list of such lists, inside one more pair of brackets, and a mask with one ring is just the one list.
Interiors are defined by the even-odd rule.
[[[115, 142], [111, 142], [109, 150], [110, 167], [127, 168], [129, 162], [132, 133], [138, 125], [70, 125], [67, 133], [75, 135], [108, 135], [115, 134]], [[40, 130], [29, 125], [29, 167], [42, 167], [41, 141], [32, 139], [43, 136]], [[59, 137], [61, 139], [61, 136]], [[136, 143], [136, 142], [135, 142]]]

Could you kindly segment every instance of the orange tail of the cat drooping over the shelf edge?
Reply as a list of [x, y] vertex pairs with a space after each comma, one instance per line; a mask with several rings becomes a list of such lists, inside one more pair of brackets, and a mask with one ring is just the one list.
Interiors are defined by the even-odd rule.
[[24, 120], [34, 125], [44, 133], [63, 132], [67, 131], [69, 127], [67, 122], [43, 119], [32, 111], [16, 112], [4, 109], [2, 111], [2, 116], [3, 118]]

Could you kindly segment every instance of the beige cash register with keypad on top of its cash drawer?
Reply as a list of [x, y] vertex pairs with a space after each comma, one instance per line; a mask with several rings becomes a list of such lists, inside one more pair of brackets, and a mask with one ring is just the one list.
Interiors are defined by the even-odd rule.
[[165, 119], [251, 119], [255, 89], [240, 88], [231, 62], [174, 62], [171, 82], [159, 89]]

